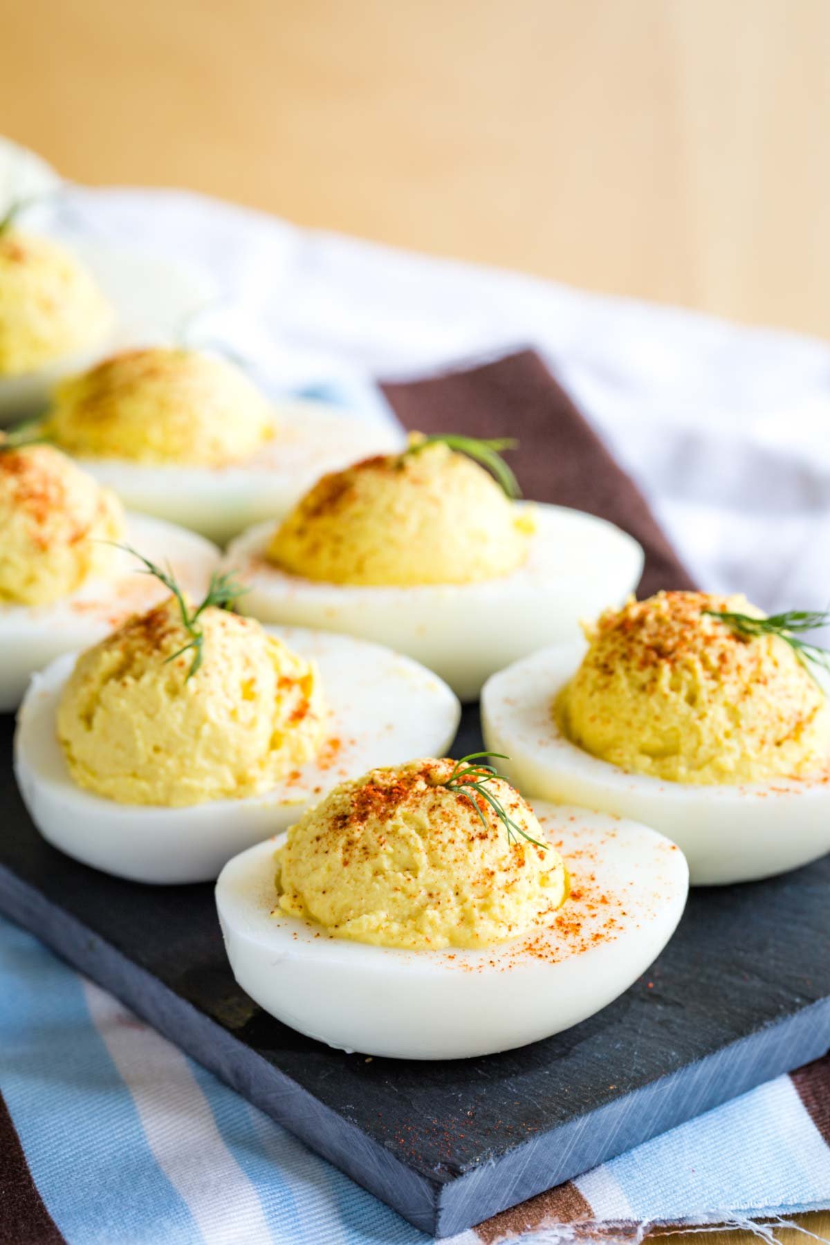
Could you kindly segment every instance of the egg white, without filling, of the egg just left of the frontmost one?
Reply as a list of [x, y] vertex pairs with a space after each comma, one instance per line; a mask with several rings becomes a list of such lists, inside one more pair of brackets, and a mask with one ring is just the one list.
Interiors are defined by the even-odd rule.
[[287, 829], [345, 778], [445, 753], [460, 708], [431, 671], [346, 636], [268, 630], [320, 669], [331, 716], [314, 761], [273, 791], [245, 799], [187, 808], [103, 799], [72, 781], [55, 731], [61, 691], [75, 665], [68, 654], [32, 680], [15, 733], [17, 784], [44, 838], [76, 860], [133, 881], [209, 881], [231, 855]]

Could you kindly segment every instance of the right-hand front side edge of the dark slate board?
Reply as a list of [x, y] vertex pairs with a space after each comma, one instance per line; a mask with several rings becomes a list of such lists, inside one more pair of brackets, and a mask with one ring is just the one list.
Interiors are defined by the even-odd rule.
[[600, 1163], [820, 1058], [830, 1047], [830, 998], [686, 1064], [636, 1093], [515, 1147], [439, 1193], [438, 1233], [452, 1236]]

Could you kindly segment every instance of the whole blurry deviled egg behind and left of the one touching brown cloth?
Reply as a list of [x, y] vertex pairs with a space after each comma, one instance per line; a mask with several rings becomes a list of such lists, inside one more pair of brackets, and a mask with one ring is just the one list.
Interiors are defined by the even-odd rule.
[[63, 381], [42, 433], [127, 505], [219, 543], [285, 514], [356, 453], [403, 439], [325, 403], [275, 408], [226, 359], [167, 346], [122, 351]]

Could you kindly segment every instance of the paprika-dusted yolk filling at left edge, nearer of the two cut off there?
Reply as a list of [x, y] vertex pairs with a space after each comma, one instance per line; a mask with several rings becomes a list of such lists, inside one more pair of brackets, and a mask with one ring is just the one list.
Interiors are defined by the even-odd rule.
[[50, 446], [0, 446], [0, 603], [49, 605], [107, 574], [121, 502]]

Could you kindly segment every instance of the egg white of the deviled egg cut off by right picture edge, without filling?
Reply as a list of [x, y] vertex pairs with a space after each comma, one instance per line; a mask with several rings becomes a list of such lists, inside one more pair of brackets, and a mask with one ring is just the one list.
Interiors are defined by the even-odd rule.
[[[524, 796], [631, 817], [683, 850], [692, 885], [770, 878], [830, 850], [829, 774], [694, 786], [627, 773], [567, 740], [551, 713], [584, 649], [557, 645], [494, 675], [482, 693], [488, 748]], [[830, 758], [829, 758], [830, 761]]]

